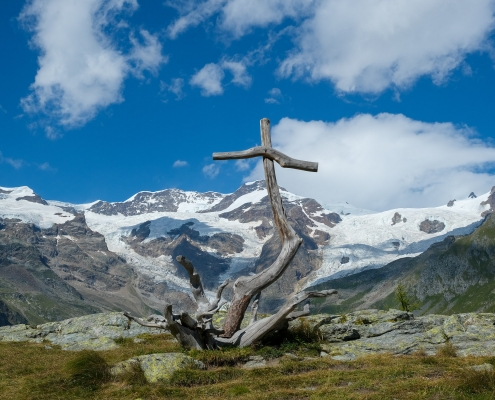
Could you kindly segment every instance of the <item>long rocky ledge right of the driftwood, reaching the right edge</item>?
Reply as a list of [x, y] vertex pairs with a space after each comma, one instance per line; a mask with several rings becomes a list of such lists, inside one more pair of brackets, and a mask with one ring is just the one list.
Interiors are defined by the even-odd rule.
[[[292, 327], [304, 323], [292, 322]], [[342, 315], [318, 314], [306, 318], [322, 339], [322, 356], [351, 361], [368, 354], [429, 355], [447, 343], [459, 356], [495, 355], [495, 314], [425, 315], [410, 312], [363, 310]]]

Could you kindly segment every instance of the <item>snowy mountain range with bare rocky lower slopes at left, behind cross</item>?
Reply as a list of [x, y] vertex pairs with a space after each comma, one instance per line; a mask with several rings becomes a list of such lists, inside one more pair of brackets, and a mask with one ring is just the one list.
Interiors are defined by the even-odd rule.
[[[448, 236], [469, 234], [495, 204], [487, 193], [437, 208], [374, 213], [281, 194], [303, 245], [283, 278], [263, 292], [267, 311], [294, 288], [391, 261], [402, 265]], [[184, 309], [192, 303], [178, 254], [214, 290], [225, 278], [266, 268], [280, 247], [263, 181], [228, 195], [167, 189], [85, 205], [47, 201], [27, 187], [0, 188], [0, 325], [98, 310], [143, 314], [164, 302]]]

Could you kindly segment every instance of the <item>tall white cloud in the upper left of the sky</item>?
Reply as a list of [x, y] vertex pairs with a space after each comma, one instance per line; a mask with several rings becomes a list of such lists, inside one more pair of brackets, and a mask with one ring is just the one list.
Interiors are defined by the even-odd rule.
[[109, 32], [129, 29], [121, 14], [138, 8], [136, 0], [31, 0], [20, 20], [33, 32], [31, 44], [40, 51], [31, 94], [22, 99], [26, 112], [43, 112], [65, 127], [80, 126], [99, 110], [123, 101], [129, 74], [142, 77], [166, 62], [156, 36], [146, 30], [127, 35], [130, 50], [122, 50]]

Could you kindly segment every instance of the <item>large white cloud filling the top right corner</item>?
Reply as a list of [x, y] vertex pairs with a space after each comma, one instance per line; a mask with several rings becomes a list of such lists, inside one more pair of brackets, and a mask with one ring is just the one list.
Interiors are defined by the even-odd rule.
[[493, 0], [327, 0], [296, 33], [282, 76], [332, 81], [342, 92], [439, 83], [466, 54], [487, 48]]

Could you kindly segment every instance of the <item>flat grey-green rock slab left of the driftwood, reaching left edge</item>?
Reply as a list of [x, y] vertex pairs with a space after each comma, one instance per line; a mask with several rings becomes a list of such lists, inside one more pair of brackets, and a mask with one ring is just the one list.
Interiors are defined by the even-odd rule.
[[49, 341], [63, 350], [110, 350], [117, 348], [114, 339], [131, 338], [149, 333], [164, 333], [157, 328], [146, 328], [129, 323], [122, 313], [90, 314], [60, 322], [48, 322], [38, 326], [14, 325], [0, 327], [2, 342]]

